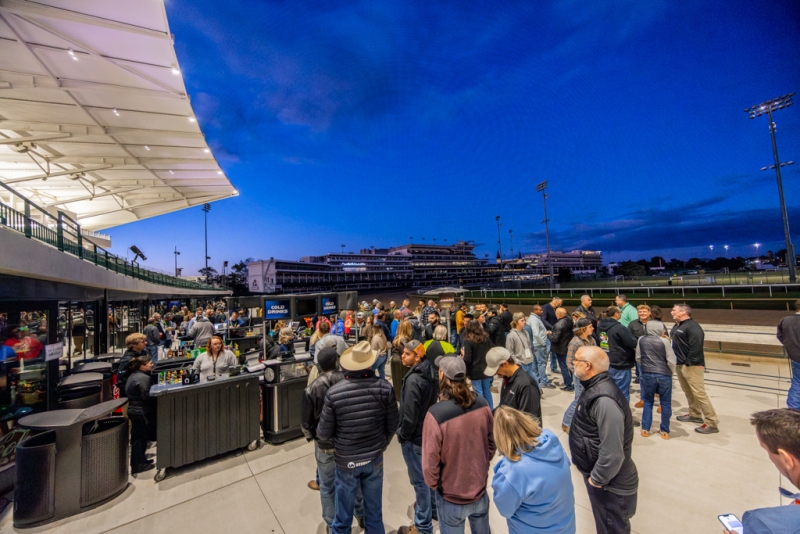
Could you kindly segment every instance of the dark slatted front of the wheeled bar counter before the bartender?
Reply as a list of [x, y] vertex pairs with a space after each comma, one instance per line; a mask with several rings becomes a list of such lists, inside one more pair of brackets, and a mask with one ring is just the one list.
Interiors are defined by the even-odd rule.
[[217, 376], [196, 384], [154, 385], [158, 421], [157, 482], [166, 468], [235, 449], [255, 449], [259, 433], [259, 375]]

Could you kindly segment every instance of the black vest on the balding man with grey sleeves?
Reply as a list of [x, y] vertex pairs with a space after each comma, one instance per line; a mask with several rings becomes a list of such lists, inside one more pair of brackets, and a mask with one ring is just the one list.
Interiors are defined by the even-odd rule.
[[629, 478], [633, 460], [631, 460], [631, 444], [633, 443], [633, 416], [628, 406], [625, 395], [619, 390], [617, 384], [611, 379], [607, 372], [593, 376], [588, 381], [581, 384], [584, 391], [578, 399], [578, 406], [575, 409], [575, 417], [569, 427], [569, 449], [572, 453], [572, 463], [581, 473], [589, 474], [597, 463], [598, 450], [600, 447], [600, 433], [597, 423], [591, 414], [592, 404], [600, 397], [608, 397], [617, 403], [625, 417], [625, 436], [622, 441], [622, 449], [625, 454], [625, 461], [614, 479], [608, 486], [628, 485], [635, 487], [638, 483], [636, 469], [633, 468], [633, 480], [617, 480], [619, 478]]

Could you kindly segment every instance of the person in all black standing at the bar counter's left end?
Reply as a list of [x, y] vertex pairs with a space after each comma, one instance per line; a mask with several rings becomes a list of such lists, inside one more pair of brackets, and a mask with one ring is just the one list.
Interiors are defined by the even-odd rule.
[[150, 371], [153, 361], [150, 356], [137, 356], [131, 361], [131, 375], [125, 385], [128, 396], [128, 418], [131, 420], [131, 474], [143, 473], [155, 468], [147, 460], [147, 441], [156, 439], [156, 403], [150, 397]]

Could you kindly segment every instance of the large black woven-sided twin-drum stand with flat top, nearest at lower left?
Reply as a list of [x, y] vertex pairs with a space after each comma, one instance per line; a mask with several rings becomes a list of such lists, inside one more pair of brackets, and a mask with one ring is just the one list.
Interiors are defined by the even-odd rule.
[[19, 420], [20, 428], [43, 432], [17, 446], [15, 527], [75, 515], [125, 490], [128, 420], [110, 414], [127, 402], [115, 399]]

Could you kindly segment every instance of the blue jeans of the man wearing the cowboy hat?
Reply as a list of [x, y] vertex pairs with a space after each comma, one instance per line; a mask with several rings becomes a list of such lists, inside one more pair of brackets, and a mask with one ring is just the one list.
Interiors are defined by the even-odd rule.
[[333, 534], [350, 534], [358, 491], [364, 496], [364, 522], [370, 534], [385, 534], [383, 528], [383, 454], [367, 465], [353, 469], [336, 466], [336, 516]]

